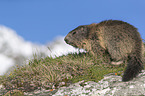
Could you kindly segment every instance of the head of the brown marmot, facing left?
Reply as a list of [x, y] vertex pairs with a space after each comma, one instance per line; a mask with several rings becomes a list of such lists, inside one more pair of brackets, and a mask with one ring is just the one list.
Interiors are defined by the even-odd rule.
[[64, 40], [67, 44], [76, 48], [84, 48], [84, 45], [86, 45], [85, 41], [87, 40], [87, 37], [88, 28], [87, 25], [83, 25], [69, 32]]

